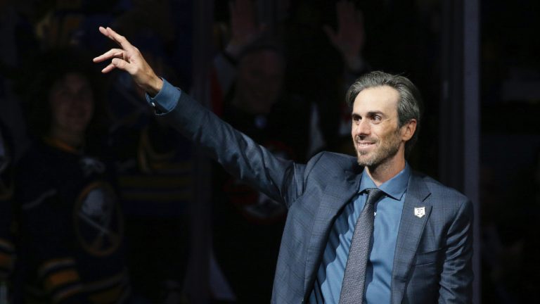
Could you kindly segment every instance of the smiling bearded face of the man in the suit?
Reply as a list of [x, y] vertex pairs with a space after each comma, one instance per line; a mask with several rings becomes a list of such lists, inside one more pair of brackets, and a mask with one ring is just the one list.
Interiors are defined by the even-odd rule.
[[378, 167], [404, 160], [398, 101], [399, 93], [388, 86], [364, 89], [354, 99], [351, 135], [359, 165]]

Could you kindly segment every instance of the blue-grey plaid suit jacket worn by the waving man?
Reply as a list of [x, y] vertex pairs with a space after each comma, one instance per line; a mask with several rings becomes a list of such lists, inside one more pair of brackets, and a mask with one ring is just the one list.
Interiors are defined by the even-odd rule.
[[[307, 165], [274, 157], [182, 92], [160, 115], [202, 145], [233, 176], [288, 208], [272, 303], [307, 303], [330, 228], [359, 189], [356, 158], [319, 153]], [[417, 217], [414, 208], [425, 207]], [[392, 303], [469, 303], [472, 204], [458, 191], [413, 173], [397, 236]]]

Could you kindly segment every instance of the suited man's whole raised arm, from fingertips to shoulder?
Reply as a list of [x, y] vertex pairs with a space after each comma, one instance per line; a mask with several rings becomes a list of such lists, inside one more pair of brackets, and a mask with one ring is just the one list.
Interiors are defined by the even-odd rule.
[[110, 28], [100, 27], [100, 31], [122, 49], [111, 49], [94, 58], [94, 62], [111, 61], [103, 72], [115, 68], [129, 72], [136, 84], [148, 92], [148, 101], [160, 110], [161, 120], [195, 144], [203, 146], [231, 175], [275, 201], [288, 205], [302, 194], [304, 165], [276, 158], [188, 94], [161, 80], [127, 39]]

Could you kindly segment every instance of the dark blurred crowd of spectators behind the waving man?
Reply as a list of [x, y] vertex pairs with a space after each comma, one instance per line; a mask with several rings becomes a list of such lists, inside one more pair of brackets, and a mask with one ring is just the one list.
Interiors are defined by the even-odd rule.
[[[409, 72], [432, 102], [409, 161], [436, 175], [435, 8], [373, 2], [214, 1], [214, 113], [282, 158], [352, 153], [348, 84], [372, 68]], [[195, 149], [91, 58], [110, 48], [98, 26], [113, 27], [189, 93], [192, 12], [189, 0], [0, 0], [0, 303], [191, 302]], [[212, 303], [268, 303], [286, 210], [211, 169]], [[509, 276], [535, 252], [525, 237], [539, 238], [483, 220], [487, 292], [514, 303], [522, 285]]]

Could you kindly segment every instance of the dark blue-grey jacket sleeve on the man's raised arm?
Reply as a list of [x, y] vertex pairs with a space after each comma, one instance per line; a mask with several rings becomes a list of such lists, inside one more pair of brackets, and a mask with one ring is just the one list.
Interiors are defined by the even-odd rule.
[[[165, 87], [169, 85], [165, 82], [162, 90], [170, 89]], [[302, 194], [304, 165], [273, 156], [184, 92], [169, 94], [168, 98], [174, 98], [172, 96], [177, 98], [176, 105], [172, 110], [158, 114], [160, 118], [195, 144], [203, 146], [229, 174], [286, 205]], [[166, 103], [170, 104], [170, 101]]]

